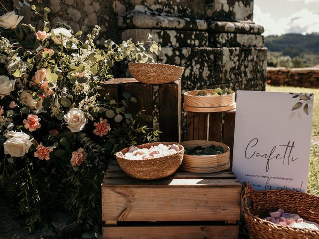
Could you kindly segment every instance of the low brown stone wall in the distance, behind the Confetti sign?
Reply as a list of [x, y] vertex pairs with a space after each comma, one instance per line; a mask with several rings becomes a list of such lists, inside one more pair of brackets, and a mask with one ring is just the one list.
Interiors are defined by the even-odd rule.
[[319, 88], [319, 68], [267, 68], [267, 84]]

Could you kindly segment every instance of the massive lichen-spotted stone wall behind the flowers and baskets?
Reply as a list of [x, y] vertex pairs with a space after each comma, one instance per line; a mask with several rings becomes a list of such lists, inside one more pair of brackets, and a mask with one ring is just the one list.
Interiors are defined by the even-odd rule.
[[[12, 1], [11, 1], [12, 2]], [[13, 0], [16, 6], [17, 0]], [[49, 19], [75, 32], [101, 26], [97, 43], [143, 40], [147, 32], [162, 45], [157, 61], [185, 67], [182, 89], [231, 87], [264, 90], [264, 29], [253, 19], [253, 0], [33, 0], [51, 9]], [[10, 4], [10, 3], [7, 3]], [[13, 7], [13, 6], [11, 6]], [[24, 13], [25, 19], [30, 14]], [[127, 64], [116, 77], [130, 77]]]

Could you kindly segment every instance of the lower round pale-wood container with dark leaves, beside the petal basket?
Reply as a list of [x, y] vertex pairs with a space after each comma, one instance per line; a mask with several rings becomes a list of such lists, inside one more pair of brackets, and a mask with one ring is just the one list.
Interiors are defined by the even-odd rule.
[[229, 147], [226, 144], [208, 141], [208, 140], [190, 140], [180, 143], [185, 148], [193, 148], [195, 146], [209, 147], [211, 145], [221, 146], [224, 153], [216, 155], [189, 155], [183, 156], [181, 169], [192, 173], [216, 173], [229, 169]]

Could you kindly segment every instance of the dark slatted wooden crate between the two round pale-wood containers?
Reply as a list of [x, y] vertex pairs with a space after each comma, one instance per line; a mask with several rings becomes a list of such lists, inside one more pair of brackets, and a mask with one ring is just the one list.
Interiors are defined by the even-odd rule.
[[232, 168], [236, 110], [214, 113], [187, 112], [186, 140], [212, 140], [230, 148]]

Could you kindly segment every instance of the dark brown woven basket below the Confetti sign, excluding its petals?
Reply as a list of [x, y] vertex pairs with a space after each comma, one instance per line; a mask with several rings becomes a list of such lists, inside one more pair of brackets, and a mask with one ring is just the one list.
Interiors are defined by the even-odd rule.
[[[251, 204], [249, 205], [249, 200]], [[319, 197], [289, 190], [255, 191], [243, 184], [242, 210], [251, 239], [319, 239], [319, 230], [298, 229], [277, 225], [262, 218], [279, 208], [301, 218], [319, 223]]]

